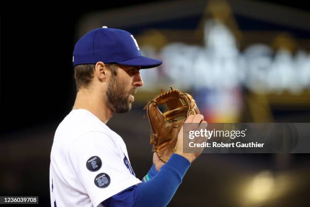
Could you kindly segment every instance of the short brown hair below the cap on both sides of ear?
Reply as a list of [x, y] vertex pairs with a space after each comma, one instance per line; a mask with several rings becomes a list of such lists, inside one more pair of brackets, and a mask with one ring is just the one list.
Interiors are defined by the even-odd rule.
[[[112, 73], [112, 76], [117, 75], [117, 64], [106, 63], [105, 64]], [[88, 88], [92, 79], [94, 78], [95, 64], [81, 64], [74, 66], [74, 80], [76, 84], [76, 90], [81, 88]]]

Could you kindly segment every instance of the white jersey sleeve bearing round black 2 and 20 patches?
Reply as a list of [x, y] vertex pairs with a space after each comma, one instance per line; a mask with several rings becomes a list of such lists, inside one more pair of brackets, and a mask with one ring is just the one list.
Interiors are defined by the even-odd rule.
[[124, 163], [124, 156], [108, 135], [98, 131], [84, 134], [70, 146], [68, 159], [95, 206], [140, 183]]

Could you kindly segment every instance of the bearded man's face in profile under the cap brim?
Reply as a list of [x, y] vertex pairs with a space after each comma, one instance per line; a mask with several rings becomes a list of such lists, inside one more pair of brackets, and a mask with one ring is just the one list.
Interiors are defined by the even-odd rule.
[[140, 67], [118, 64], [117, 75], [109, 79], [106, 90], [108, 107], [116, 113], [126, 113], [131, 109], [137, 87], [143, 85]]

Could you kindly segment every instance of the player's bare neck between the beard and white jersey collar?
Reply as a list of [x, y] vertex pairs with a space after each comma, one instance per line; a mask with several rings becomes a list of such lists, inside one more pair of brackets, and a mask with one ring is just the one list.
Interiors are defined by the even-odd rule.
[[81, 89], [76, 94], [75, 102], [73, 105], [74, 109], [85, 109], [94, 114], [100, 121], [107, 123], [108, 120], [113, 116], [111, 111], [106, 104], [105, 94], [98, 94], [97, 91], [90, 91], [88, 89]]

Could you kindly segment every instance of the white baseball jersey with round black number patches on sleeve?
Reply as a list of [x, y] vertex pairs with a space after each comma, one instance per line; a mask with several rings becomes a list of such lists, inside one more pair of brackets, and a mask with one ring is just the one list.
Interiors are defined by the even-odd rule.
[[103, 206], [102, 201], [141, 183], [126, 145], [91, 112], [72, 110], [59, 124], [51, 152], [54, 206]]

